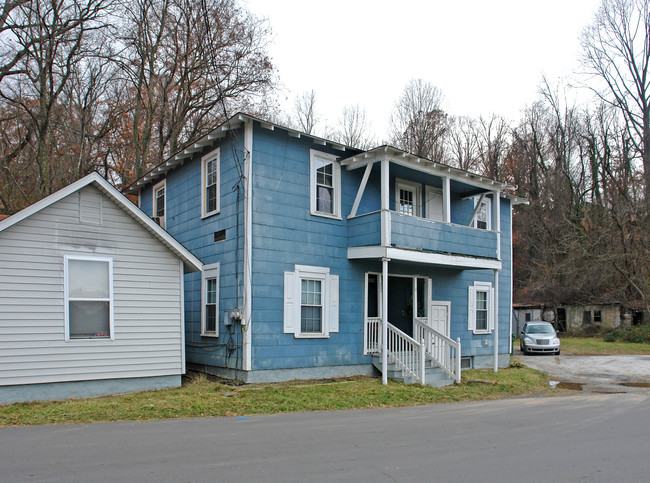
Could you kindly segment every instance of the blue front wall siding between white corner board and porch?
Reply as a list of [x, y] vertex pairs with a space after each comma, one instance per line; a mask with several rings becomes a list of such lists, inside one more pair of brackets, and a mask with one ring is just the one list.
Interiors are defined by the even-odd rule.
[[[256, 127], [253, 139], [253, 369], [368, 363], [363, 356], [363, 272], [347, 259], [346, 216], [363, 173], [341, 170], [342, 220], [314, 216], [310, 149], [343, 153], [280, 129]], [[339, 332], [329, 338], [283, 333], [283, 277], [296, 264], [329, 267], [339, 276]]]

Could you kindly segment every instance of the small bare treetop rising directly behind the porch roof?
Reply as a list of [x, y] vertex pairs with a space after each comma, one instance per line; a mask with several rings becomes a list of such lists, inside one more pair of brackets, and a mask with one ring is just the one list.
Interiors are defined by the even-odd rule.
[[395, 103], [390, 118], [391, 142], [416, 156], [443, 161], [448, 124], [440, 90], [414, 79]]

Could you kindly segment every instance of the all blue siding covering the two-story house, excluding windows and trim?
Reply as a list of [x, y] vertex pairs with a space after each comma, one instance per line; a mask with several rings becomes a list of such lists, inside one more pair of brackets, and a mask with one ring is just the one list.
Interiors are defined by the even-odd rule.
[[[242, 305], [244, 200], [233, 190], [239, 180], [237, 161], [243, 163], [243, 131], [220, 142], [219, 214], [201, 219], [201, 156], [197, 153], [167, 177], [167, 230], [204, 263], [220, 263], [219, 337], [200, 335], [200, 274], [186, 276], [185, 318], [187, 361], [200, 365], [240, 368], [242, 333], [239, 324], [225, 327], [223, 311]], [[379, 261], [348, 260], [348, 246], [379, 245], [381, 237], [380, 170], [371, 173], [357, 216], [347, 216], [363, 176], [363, 170], [341, 169], [342, 219], [310, 214], [310, 150], [338, 157], [349, 153], [331, 150], [311, 140], [288, 136], [280, 128], [271, 131], [255, 123], [252, 167], [252, 364], [253, 370], [367, 364], [363, 356], [364, 277], [380, 272]], [[390, 197], [394, 209], [394, 179], [416, 179], [439, 186], [439, 178], [391, 166]], [[466, 225], [474, 208], [463, 199], [471, 187], [452, 183], [449, 225], [392, 214], [392, 241], [396, 246], [447, 253], [495, 257], [496, 235]], [[463, 191], [464, 190], [464, 191]], [[141, 207], [151, 214], [151, 185], [141, 192]], [[239, 203], [238, 203], [239, 197]], [[502, 260], [499, 294], [499, 352], [508, 352], [510, 317], [510, 209], [502, 201]], [[239, 240], [237, 227], [239, 226]], [[214, 242], [214, 232], [225, 229], [226, 240]], [[283, 333], [283, 274], [296, 264], [329, 267], [340, 277], [339, 332], [329, 338], [296, 339]], [[414, 264], [390, 263], [391, 274], [430, 277], [433, 299], [451, 302], [451, 335], [460, 337], [463, 355], [491, 355], [491, 335], [467, 330], [468, 286], [475, 281], [493, 282], [491, 270], [462, 270]], [[238, 282], [240, 296], [238, 299]], [[483, 346], [483, 340], [488, 345]]]

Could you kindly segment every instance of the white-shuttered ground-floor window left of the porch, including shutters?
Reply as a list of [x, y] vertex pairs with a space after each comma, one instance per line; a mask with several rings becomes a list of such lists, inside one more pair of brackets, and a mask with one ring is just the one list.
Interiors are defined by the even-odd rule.
[[339, 277], [307, 265], [284, 272], [284, 332], [308, 338], [338, 331]]

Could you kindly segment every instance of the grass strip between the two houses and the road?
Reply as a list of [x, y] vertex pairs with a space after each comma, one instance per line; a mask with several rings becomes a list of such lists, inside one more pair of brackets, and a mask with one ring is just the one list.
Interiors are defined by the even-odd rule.
[[396, 382], [383, 386], [369, 377], [233, 386], [194, 376], [176, 389], [0, 406], [0, 426], [415, 406], [558, 391], [549, 388], [545, 374], [526, 367], [497, 374], [464, 371], [461, 384], [443, 388]]

